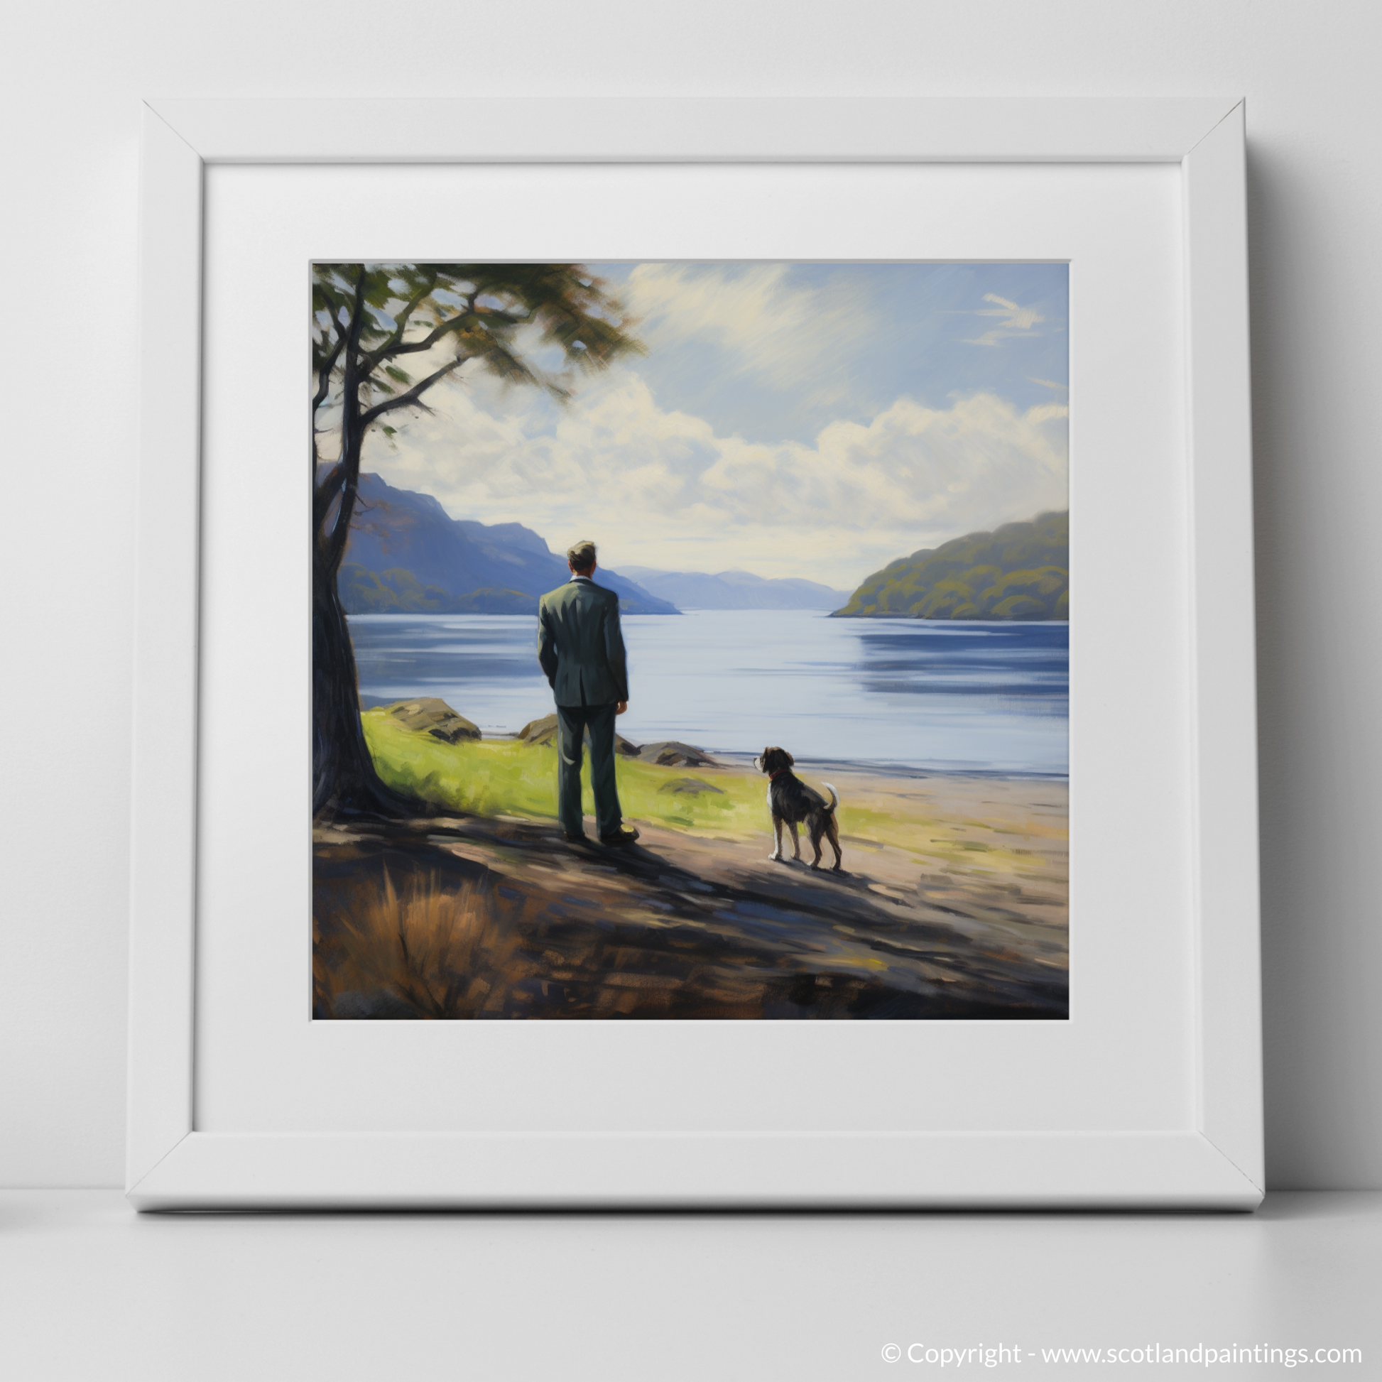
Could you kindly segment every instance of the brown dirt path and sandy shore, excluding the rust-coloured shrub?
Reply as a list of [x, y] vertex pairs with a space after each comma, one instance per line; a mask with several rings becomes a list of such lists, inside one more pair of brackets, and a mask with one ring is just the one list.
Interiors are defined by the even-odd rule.
[[321, 831], [319, 911], [366, 860], [518, 894], [545, 978], [514, 1002], [533, 1016], [1063, 1017], [1063, 788], [847, 777], [832, 781], [855, 803], [920, 799], [936, 833], [911, 849], [846, 836], [836, 875], [770, 861], [767, 832], [638, 822], [636, 846], [604, 850], [504, 818]]

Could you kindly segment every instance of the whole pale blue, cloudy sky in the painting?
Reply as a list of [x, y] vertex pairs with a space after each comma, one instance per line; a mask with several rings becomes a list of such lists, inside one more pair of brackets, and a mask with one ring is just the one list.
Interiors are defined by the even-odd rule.
[[1067, 507], [1064, 264], [589, 267], [645, 355], [564, 405], [467, 366], [365, 468], [614, 569], [837, 589]]

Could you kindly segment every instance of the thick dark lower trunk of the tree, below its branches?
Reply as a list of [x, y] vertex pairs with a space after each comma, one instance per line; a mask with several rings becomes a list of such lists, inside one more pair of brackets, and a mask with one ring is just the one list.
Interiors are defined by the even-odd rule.
[[[314, 543], [315, 546], [315, 543]], [[422, 803], [386, 786], [359, 723], [359, 680], [336, 572], [312, 557], [312, 815], [416, 815]]]

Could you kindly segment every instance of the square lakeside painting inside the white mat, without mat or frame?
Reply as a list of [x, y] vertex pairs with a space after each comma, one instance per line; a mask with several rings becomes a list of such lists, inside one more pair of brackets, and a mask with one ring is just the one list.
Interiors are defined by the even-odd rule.
[[314, 1020], [1066, 1020], [1067, 312], [314, 264]]

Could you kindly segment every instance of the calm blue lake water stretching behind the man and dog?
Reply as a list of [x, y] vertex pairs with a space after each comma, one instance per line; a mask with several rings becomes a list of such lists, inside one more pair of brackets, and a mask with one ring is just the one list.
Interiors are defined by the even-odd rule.
[[[529, 615], [355, 615], [363, 695], [441, 697], [481, 731], [551, 713]], [[1068, 626], [831, 619], [814, 609], [626, 615], [636, 744], [1064, 774]]]

